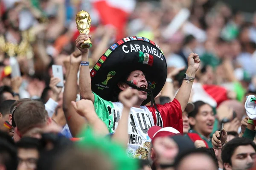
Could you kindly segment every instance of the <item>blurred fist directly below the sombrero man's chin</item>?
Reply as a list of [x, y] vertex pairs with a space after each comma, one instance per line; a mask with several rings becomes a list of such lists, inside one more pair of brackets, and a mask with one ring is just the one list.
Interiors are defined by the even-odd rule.
[[118, 99], [124, 107], [131, 108], [138, 101], [138, 91], [136, 89], [127, 88], [125, 91], [122, 91]]

